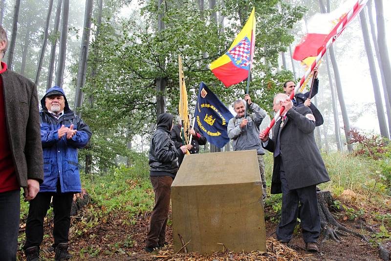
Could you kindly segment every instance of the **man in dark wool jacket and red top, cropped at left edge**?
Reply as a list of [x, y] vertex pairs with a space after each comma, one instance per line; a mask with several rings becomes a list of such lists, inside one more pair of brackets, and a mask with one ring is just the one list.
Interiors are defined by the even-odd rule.
[[37, 87], [1, 62], [7, 44], [0, 26], [0, 260], [15, 261], [21, 187], [35, 198], [43, 167]]

